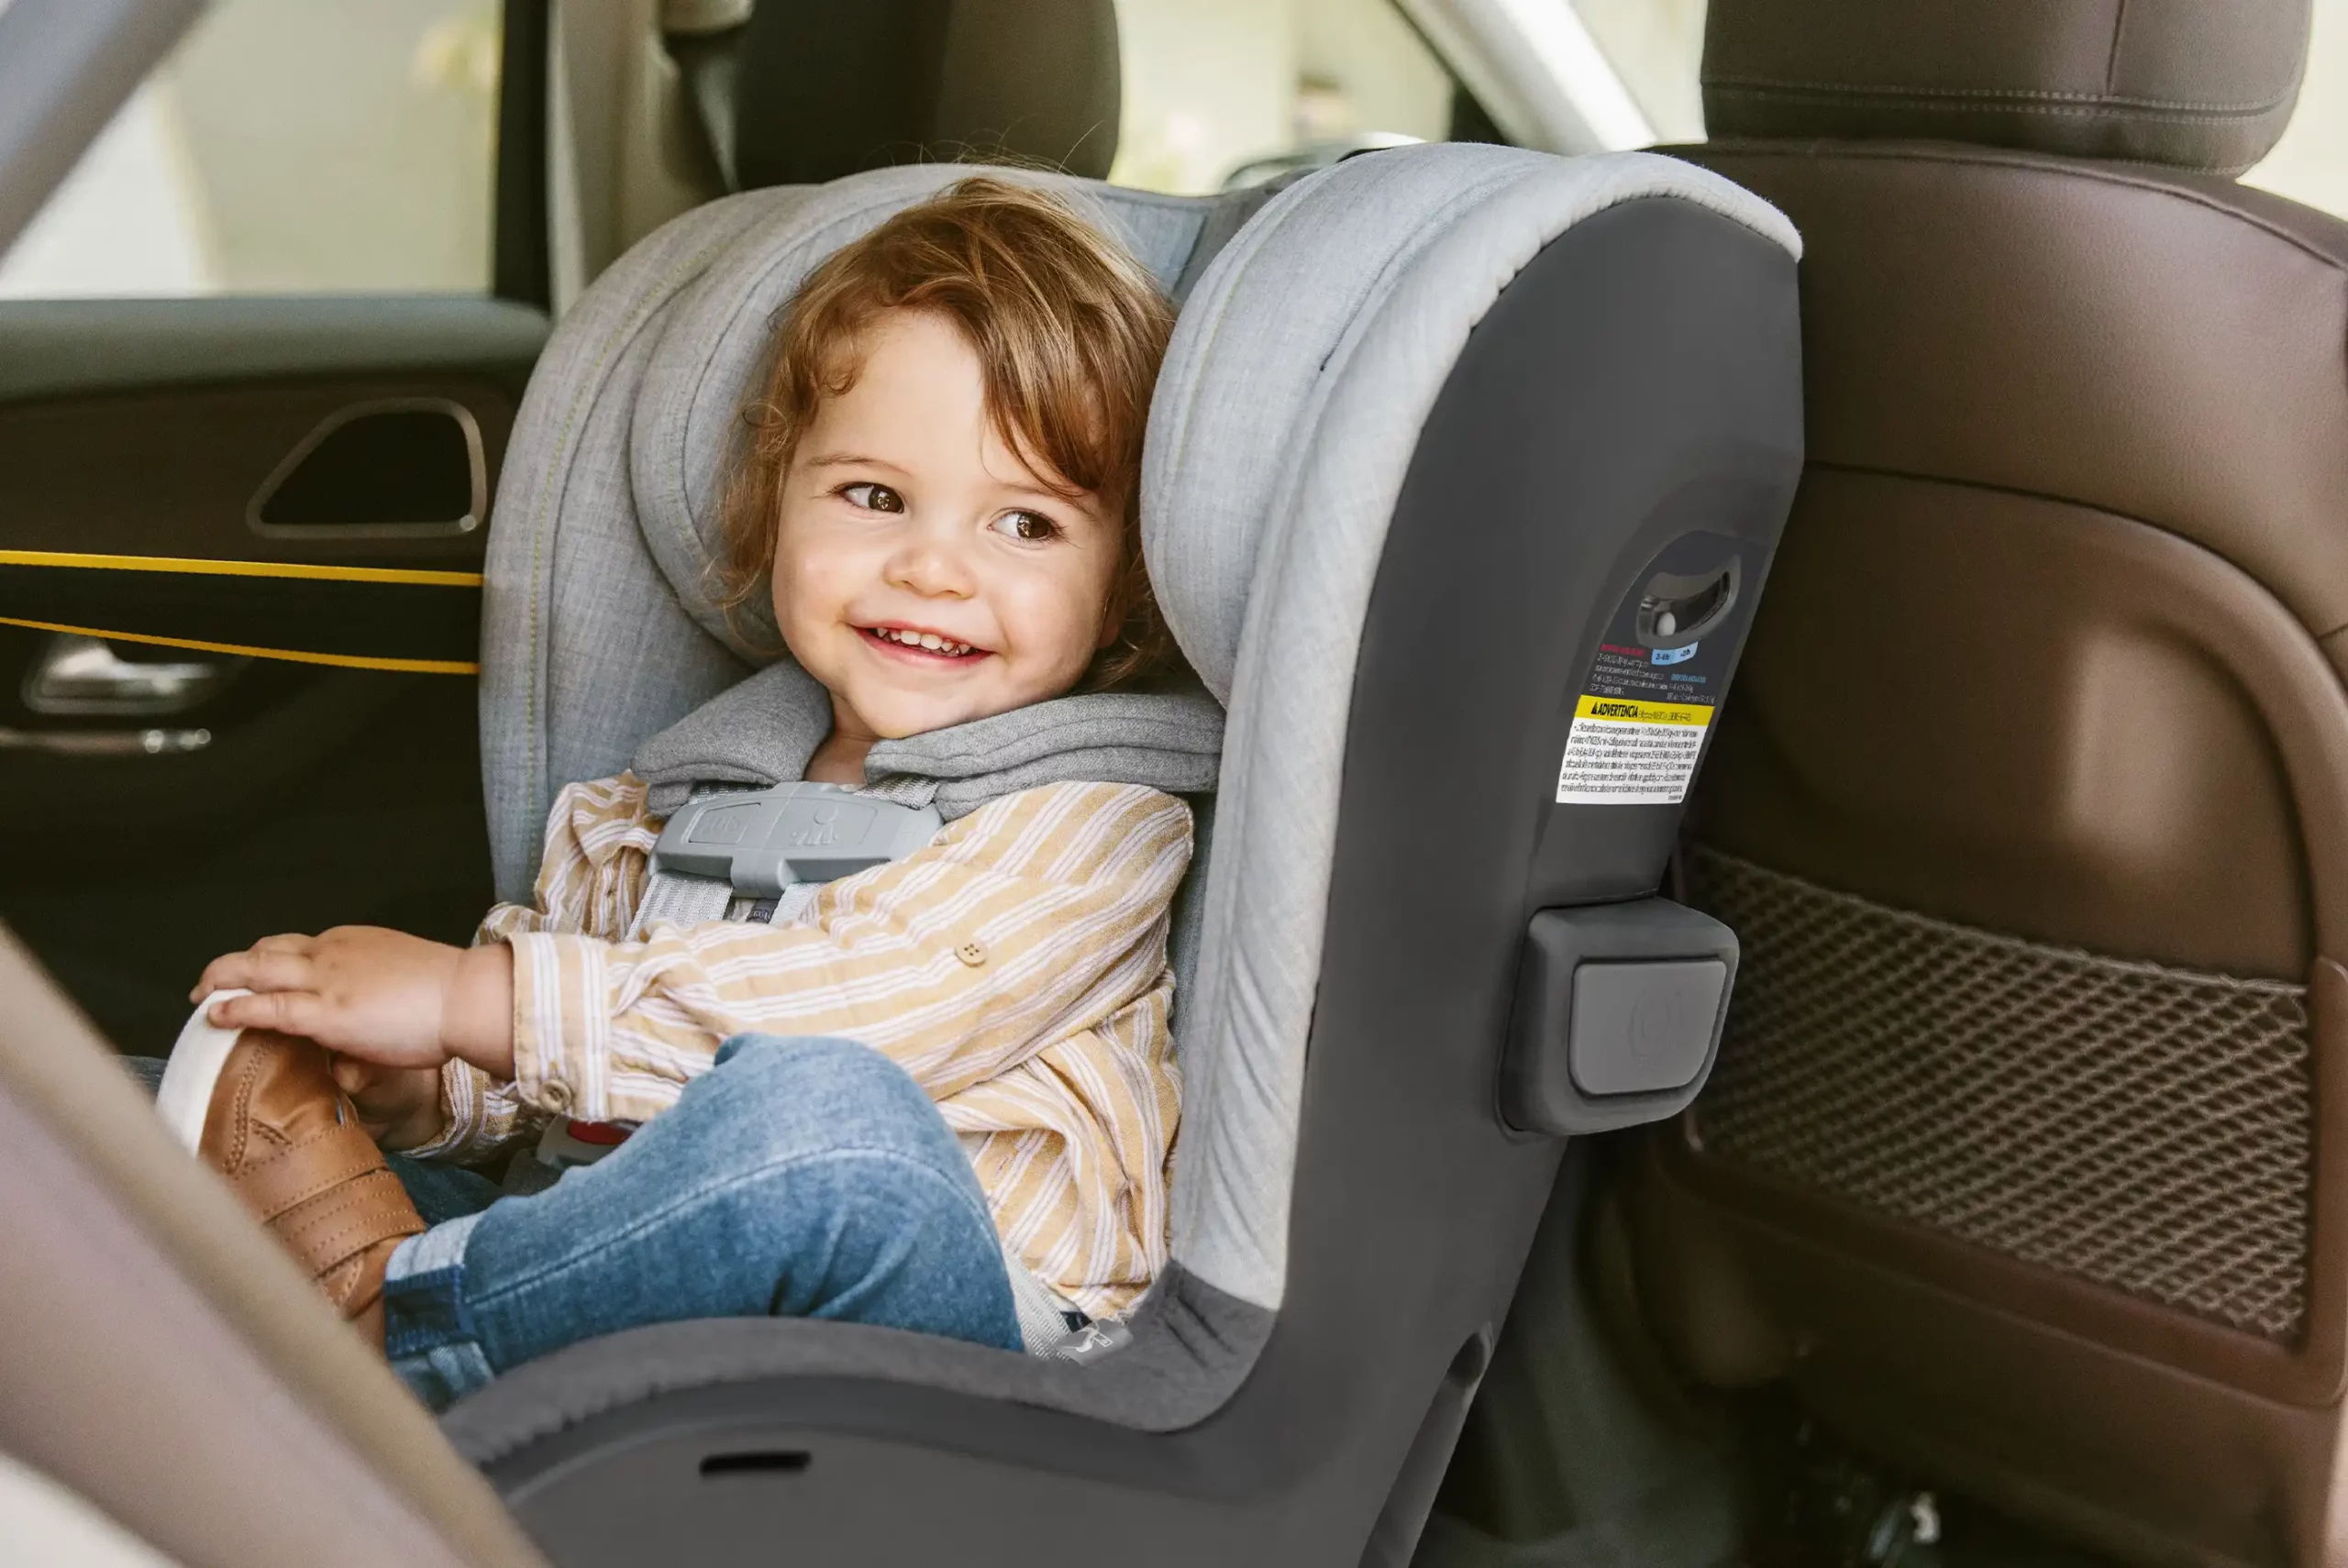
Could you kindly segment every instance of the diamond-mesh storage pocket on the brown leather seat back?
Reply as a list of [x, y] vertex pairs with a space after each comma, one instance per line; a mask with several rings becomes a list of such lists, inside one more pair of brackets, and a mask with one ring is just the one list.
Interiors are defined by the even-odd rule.
[[1719, 850], [1742, 944], [1712, 1160], [2289, 1340], [2308, 1303], [2306, 988], [2097, 958]]

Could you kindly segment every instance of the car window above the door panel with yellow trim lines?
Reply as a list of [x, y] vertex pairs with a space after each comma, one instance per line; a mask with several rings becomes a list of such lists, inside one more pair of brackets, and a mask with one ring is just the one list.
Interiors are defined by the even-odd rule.
[[495, 0], [214, 0], [0, 296], [486, 291]]

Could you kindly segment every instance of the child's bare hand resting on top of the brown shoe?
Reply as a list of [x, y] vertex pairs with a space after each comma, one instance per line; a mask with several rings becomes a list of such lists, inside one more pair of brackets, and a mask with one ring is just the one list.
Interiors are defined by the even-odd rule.
[[279, 1028], [385, 1068], [437, 1068], [463, 1056], [514, 1075], [514, 955], [505, 944], [451, 948], [376, 925], [317, 937], [263, 937], [214, 958], [188, 1000], [214, 1002], [221, 1028]]

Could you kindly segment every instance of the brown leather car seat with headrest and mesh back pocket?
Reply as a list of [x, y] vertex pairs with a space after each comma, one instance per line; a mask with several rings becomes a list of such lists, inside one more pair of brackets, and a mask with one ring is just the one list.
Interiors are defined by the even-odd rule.
[[[2303, 0], [1714, 0], [1810, 458], [1627, 1188], [1714, 1385], [2134, 1561], [2348, 1561], [2348, 225]], [[1930, 141], [1923, 141], [1930, 138]]]

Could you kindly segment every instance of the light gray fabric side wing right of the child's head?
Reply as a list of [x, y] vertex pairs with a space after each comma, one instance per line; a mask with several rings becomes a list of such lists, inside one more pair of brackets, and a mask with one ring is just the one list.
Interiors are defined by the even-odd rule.
[[1566, 228], [1646, 197], [1799, 256], [1775, 209], [1667, 157], [1470, 143], [1357, 157], [1284, 190], [1214, 258], [1158, 378], [1151, 580], [1230, 704], [1181, 1023], [1174, 1256], [1242, 1300], [1280, 1305], [1287, 1277], [1355, 648], [1416, 434], [1503, 284]]

